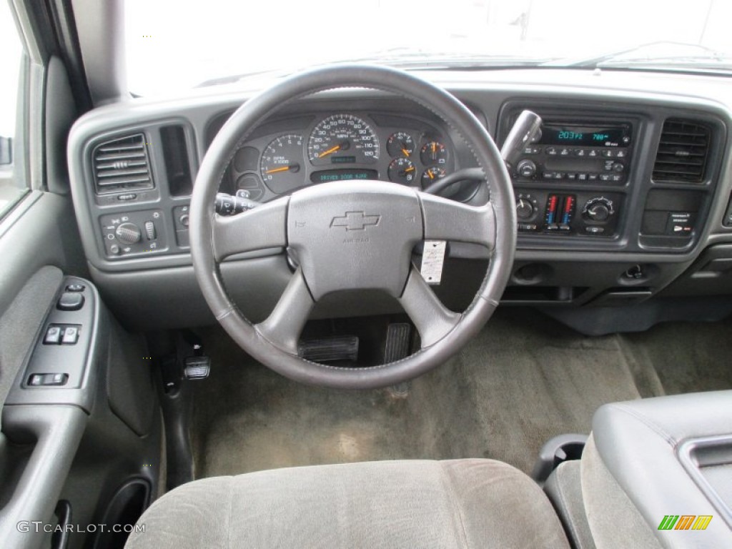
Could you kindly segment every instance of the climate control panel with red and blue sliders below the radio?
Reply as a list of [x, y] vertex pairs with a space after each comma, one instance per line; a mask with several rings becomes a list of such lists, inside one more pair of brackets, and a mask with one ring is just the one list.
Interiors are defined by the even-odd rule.
[[520, 233], [615, 236], [622, 195], [554, 190], [516, 190]]

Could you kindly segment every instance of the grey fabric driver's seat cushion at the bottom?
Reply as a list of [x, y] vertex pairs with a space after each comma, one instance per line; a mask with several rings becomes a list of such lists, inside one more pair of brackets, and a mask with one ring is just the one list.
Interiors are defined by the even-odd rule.
[[542, 490], [493, 460], [275, 469], [183, 485], [129, 549], [569, 548]]

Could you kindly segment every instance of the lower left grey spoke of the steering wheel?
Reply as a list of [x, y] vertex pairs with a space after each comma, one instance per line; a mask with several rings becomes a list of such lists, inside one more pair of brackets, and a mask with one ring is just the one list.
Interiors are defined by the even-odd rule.
[[307, 289], [305, 277], [297, 269], [272, 313], [254, 327], [269, 343], [296, 355], [300, 333], [314, 306], [315, 301]]

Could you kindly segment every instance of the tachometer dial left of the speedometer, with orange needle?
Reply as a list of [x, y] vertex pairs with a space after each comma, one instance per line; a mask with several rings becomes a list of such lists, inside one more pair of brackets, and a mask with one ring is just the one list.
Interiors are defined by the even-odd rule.
[[262, 153], [259, 169], [272, 193], [287, 193], [306, 183], [300, 171], [302, 135], [288, 133], [269, 143]]

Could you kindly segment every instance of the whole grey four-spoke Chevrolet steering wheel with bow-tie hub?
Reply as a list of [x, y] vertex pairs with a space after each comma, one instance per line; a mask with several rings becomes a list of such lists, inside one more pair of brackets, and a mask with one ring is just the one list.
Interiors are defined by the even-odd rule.
[[[214, 212], [223, 173], [258, 124], [286, 103], [345, 87], [391, 92], [436, 113], [471, 147], [490, 182], [490, 201], [470, 206], [395, 183], [341, 181], [305, 187], [233, 217]], [[423, 240], [474, 242], [490, 250], [485, 278], [462, 314], [444, 307], [411, 264], [412, 250]], [[493, 314], [511, 272], [515, 246], [512, 185], [493, 139], [447, 91], [388, 67], [318, 68], [247, 100], [206, 152], [190, 204], [193, 267], [217, 321], [264, 365], [320, 386], [389, 386], [445, 362]], [[271, 247], [293, 250], [299, 267], [269, 317], [252, 324], [228, 296], [219, 265], [228, 255]], [[373, 367], [335, 367], [299, 357], [297, 341], [315, 302], [335, 291], [359, 289], [381, 290], [398, 300], [417, 327], [419, 351]]]

